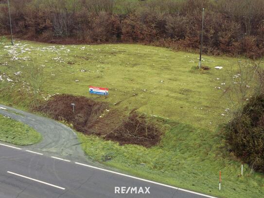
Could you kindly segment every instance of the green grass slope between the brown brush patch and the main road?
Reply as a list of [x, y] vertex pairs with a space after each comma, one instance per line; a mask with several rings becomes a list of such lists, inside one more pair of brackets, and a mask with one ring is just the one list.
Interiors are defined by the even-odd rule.
[[[261, 198], [264, 177], [234, 162], [221, 147], [221, 137], [209, 130], [185, 124], [168, 123], [173, 127], [160, 145], [144, 148], [120, 146], [95, 136], [77, 133], [85, 152], [93, 160], [149, 180], [225, 198]], [[210, 140], [210, 141], [209, 141]], [[222, 189], [218, 190], [219, 170]]]

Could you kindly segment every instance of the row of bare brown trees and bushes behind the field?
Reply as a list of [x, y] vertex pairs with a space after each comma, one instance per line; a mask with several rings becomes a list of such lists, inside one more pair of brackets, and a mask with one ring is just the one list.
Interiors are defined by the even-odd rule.
[[[264, 55], [264, 0], [10, 0], [13, 32], [54, 43], [144, 43], [177, 50]], [[9, 34], [0, 0], [0, 35]]]

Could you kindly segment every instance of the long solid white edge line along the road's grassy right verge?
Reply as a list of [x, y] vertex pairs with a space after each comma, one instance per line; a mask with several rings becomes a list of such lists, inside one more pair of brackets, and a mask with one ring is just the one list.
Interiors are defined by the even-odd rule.
[[200, 196], [207, 197], [207, 198], [216, 198], [216, 197], [212, 197], [210, 195], [205, 195], [205, 194], [202, 194], [202, 193], [196, 193], [194, 191], [185, 190], [185, 189], [182, 189], [182, 188], [178, 188], [178, 187], [175, 187], [175, 186], [170, 186], [170, 185], [163, 184], [163, 183], [158, 183], [156, 181], [151, 181], [151, 180], [145, 180], [145, 179], [137, 178], [137, 177], [134, 177], [134, 176], [131, 176], [131, 175], [126, 175], [126, 174], [123, 174], [123, 173], [118, 173], [118, 172], [115, 172], [115, 171], [106, 170], [106, 169], [103, 169], [103, 168], [98, 168], [98, 167], [91, 166], [91, 165], [87, 165], [87, 164], [84, 164], [84, 163], [79, 163], [79, 162], [75, 162], [75, 163], [76, 164], [79, 164], [79, 165], [87, 166], [87, 167], [90, 167], [90, 168], [94, 168], [94, 169], [106, 171], [106, 172], [109, 172], [109, 173], [113, 173], [113, 174], [117, 174], [117, 175], [122, 175], [124, 177], [133, 178], [133, 179], [141, 180], [141, 181], [146, 181], [146, 182], [154, 183], [154, 184], [161, 185], [161, 186], [165, 186], [165, 187], [169, 187], [169, 188], [174, 188], [176, 190], [180, 190], [180, 191], [192, 193], [192, 194], [195, 194], [195, 195], [200, 195]]

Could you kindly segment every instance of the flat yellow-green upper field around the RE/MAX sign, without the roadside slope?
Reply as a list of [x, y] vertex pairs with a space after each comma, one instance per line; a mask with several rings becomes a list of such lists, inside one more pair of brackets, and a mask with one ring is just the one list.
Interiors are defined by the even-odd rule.
[[[221, 83], [227, 80], [228, 71], [236, 70], [236, 59], [204, 56], [203, 63], [211, 70], [200, 72], [192, 69], [198, 64], [197, 54], [165, 48], [126, 44], [51, 46], [26, 41], [17, 44], [0, 45], [1, 71], [11, 75], [14, 81], [20, 79], [13, 73], [29, 64], [23, 59], [32, 58], [44, 67], [44, 94], [71, 93], [112, 105], [123, 101], [120, 107], [139, 108], [142, 112], [205, 128], [229, 120], [221, 115], [231, 108], [222, 96], [225, 87]], [[215, 66], [224, 69], [216, 70]], [[110, 96], [105, 99], [89, 95], [89, 85], [109, 88]], [[130, 97], [135, 93], [137, 96]], [[9, 100], [21, 101], [11, 96]]]

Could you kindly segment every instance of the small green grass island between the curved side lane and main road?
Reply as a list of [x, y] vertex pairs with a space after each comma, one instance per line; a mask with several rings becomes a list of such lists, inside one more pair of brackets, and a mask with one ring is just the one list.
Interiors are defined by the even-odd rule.
[[41, 140], [40, 133], [12, 118], [0, 115], [0, 141], [28, 145]]

